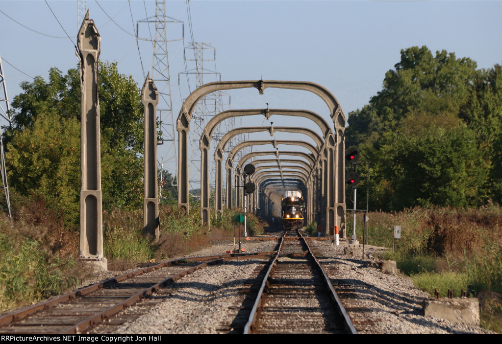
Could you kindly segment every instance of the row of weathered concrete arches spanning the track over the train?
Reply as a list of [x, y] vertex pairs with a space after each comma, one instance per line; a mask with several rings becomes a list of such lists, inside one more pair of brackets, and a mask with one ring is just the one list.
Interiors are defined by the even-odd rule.
[[[320, 129], [322, 136], [315, 131], [306, 128], [297, 127], [246, 127], [236, 128], [226, 133], [215, 147], [214, 160], [216, 165], [215, 177], [215, 206], [216, 213], [223, 210], [223, 189], [226, 189], [226, 206], [233, 206], [232, 189], [235, 189], [235, 206], [240, 207], [244, 197], [241, 190], [242, 180], [240, 178], [243, 165], [251, 158], [256, 158], [261, 155], [275, 155], [276, 162], [288, 162], [292, 165], [280, 165], [275, 170], [273, 166], [263, 166], [257, 169], [253, 180], [257, 183], [257, 191], [249, 196], [250, 204], [254, 204], [262, 195], [266, 195], [264, 188], [277, 188], [278, 183], [283, 183], [284, 178], [293, 178], [299, 183], [299, 187], [305, 190], [307, 197], [306, 217], [307, 221], [317, 220], [321, 224], [326, 233], [333, 233], [335, 226], [338, 227], [340, 234], [346, 236], [345, 232], [345, 190], [344, 190], [344, 130], [346, 119], [341, 110], [341, 107], [336, 98], [325, 88], [320, 85], [310, 82], [296, 81], [230, 81], [230, 82], [215, 82], [203, 85], [192, 92], [185, 100], [180, 110], [177, 120], [178, 131], [178, 208], [183, 211], [188, 211], [188, 134], [190, 130], [190, 120], [195, 105], [205, 95], [223, 90], [242, 89], [242, 88], [257, 88], [260, 94], [263, 94], [266, 88], [282, 88], [291, 90], [302, 90], [312, 92], [320, 97], [328, 106], [330, 117], [333, 121], [331, 128], [323, 117], [308, 110], [290, 110], [290, 109], [245, 109], [245, 110], [229, 110], [224, 111], [214, 116], [201, 135], [199, 146], [201, 150], [201, 203], [200, 217], [205, 225], [209, 225], [210, 209], [209, 209], [209, 148], [212, 139], [212, 134], [216, 126], [231, 117], [242, 117], [252, 115], [264, 115], [269, 119], [272, 115], [279, 116], [298, 116], [304, 117], [313, 121]], [[262, 140], [262, 141], [247, 141], [242, 142], [228, 154], [225, 162], [226, 187], [223, 185], [223, 153], [225, 146], [229, 140], [242, 133], [253, 132], [269, 132], [274, 135], [275, 132], [287, 132], [295, 134], [303, 134], [310, 137], [316, 146], [305, 141], [299, 140]], [[244, 147], [254, 145], [271, 144], [277, 148], [278, 144], [289, 144], [307, 148], [310, 154], [291, 151], [291, 152], [255, 152], [243, 156], [238, 163], [235, 164], [234, 157]], [[302, 159], [283, 159], [282, 156], [298, 156]], [[265, 161], [273, 162], [266, 159]], [[265, 161], [255, 161], [254, 164], [265, 163]], [[306, 162], [307, 163], [306, 163]], [[292, 169], [293, 171], [285, 171]], [[235, 177], [234, 177], [235, 176]], [[280, 179], [278, 179], [280, 178]], [[232, 187], [232, 180], [235, 184]], [[266, 198], [266, 197], [265, 197]]]

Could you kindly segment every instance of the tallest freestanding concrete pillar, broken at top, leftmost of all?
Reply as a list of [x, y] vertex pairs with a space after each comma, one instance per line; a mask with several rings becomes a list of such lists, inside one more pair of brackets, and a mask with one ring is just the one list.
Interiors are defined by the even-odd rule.
[[77, 39], [80, 57], [80, 258], [98, 270], [107, 270], [103, 255], [103, 204], [98, 102], [98, 58], [101, 37], [94, 21], [85, 15]]

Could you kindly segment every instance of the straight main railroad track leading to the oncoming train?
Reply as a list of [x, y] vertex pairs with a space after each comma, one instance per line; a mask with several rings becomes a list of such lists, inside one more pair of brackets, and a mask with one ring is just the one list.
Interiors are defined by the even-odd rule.
[[286, 233], [244, 333], [356, 333], [326, 272], [298, 231]]

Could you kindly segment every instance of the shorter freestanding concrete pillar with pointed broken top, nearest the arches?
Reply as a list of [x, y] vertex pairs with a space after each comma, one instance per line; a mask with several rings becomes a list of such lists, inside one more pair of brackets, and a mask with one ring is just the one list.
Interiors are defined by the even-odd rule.
[[141, 90], [141, 102], [145, 107], [145, 146], [144, 146], [144, 196], [143, 196], [143, 234], [150, 234], [159, 240], [159, 188], [157, 183], [157, 104], [159, 91], [150, 73]]

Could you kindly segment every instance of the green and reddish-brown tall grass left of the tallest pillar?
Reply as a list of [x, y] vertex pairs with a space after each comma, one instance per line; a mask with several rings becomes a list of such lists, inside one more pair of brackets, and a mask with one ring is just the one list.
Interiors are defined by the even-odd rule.
[[[19, 205], [19, 204], [18, 204]], [[0, 312], [76, 286], [78, 235], [41, 199], [19, 206], [13, 220], [0, 214]]]

